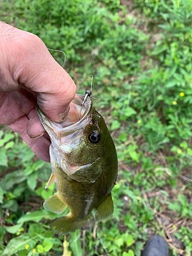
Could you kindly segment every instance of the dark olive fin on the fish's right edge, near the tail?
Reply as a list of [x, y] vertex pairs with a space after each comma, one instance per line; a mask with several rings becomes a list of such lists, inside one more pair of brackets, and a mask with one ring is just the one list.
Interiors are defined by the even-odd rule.
[[96, 221], [102, 221], [110, 217], [110, 215], [112, 214], [113, 214], [113, 200], [110, 193], [108, 197], [105, 198], [105, 200], [96, 207], [95, 218], [96, 218]]

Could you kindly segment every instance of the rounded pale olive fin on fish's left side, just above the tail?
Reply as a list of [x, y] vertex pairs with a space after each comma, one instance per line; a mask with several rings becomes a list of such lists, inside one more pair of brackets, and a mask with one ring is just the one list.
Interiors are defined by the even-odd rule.
[[55, 214], [62, 214], [62, 212], [67, 208], [67, 204], [65, 204], [59, 197], [58, 193], [56, 193], [46, 199], [44, 202], [44, 208], [54, 212]]

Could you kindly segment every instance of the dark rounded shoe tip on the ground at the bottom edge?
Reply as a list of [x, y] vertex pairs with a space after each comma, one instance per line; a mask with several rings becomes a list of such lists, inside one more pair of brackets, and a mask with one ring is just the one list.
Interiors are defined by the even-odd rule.
[[164, 238], [157, 234], [153, 236], [145, 245], [142, 256], [168, 256], [168, 246]]

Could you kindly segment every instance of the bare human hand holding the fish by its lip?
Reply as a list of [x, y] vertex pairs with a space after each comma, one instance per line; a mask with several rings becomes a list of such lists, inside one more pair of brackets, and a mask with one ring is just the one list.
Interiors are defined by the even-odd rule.
[[[35, 105], [62, 122], [76, 86], [34, 34], [0, 22], [0, 124], [20, 134], [31, 150], [49, 162], [50, 142]], [[35, 140], [31, 138], [39, 137]]]

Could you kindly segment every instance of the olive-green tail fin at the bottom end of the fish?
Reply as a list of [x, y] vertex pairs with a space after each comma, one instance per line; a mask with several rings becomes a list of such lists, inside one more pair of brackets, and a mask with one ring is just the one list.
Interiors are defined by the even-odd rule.
[[52, 222], [51, 228], [55, 227], [55, 231], [58, 233], [69, 233], [70, 231], [75, 231], [86, 224], [87, 220], [77, 220], [72, 217], [71, 213], [69, 213], [68, 215], [58, 218]]

